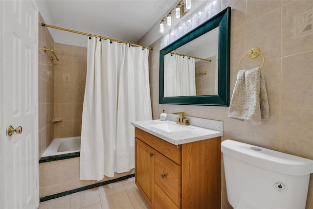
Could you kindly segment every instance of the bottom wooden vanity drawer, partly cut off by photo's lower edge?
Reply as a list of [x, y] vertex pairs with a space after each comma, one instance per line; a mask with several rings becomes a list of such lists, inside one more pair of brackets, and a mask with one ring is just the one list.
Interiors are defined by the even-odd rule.
[[179, 209], [157, 184], [155, 184], [155, 209]]

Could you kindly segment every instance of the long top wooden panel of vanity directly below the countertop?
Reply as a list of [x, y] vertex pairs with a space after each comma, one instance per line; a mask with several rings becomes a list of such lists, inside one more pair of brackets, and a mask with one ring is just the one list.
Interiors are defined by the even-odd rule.
[[175, 163], [181, 165], [181, 147], [177, 147], [174, 144], [171, 144], [163, 139], [157, 138], [152, 134], [149, 134], [139, 128], [135, 128], [135, 137], [142, 140], [146, 144], [149, 144], [156, 151], [167, 156], [169, 159]]

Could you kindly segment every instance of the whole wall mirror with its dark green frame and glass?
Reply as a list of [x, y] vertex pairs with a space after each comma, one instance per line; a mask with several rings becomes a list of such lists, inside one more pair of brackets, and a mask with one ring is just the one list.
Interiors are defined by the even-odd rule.
[[160, 104], [229, 106], [230, 7], [160, 50]]

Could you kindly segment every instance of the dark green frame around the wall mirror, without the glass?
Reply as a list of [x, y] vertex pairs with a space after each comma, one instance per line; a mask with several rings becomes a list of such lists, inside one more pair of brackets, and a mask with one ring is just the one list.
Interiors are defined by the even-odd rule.
[[[218, 95], [164, 97], [164, 56], [219, 26]], [[160, 50], [159, 104], [229, 106], [230, 7]]]

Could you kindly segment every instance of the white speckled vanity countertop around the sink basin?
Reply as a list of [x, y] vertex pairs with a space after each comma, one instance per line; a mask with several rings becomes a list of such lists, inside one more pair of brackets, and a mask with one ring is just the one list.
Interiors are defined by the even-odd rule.
[[188, 129], [175, 132], [166, 132], [156, 127], [153, 127], [154, 124], [160, 123], [176, 124], [176, 122], [170, 120], [161, 121], [159, 119], [131, 122], [134, 127], [137, 127], [145, 132], [148, 132], [149, 134], [152, 134], [175, 145], [223, 136], [223, 132], [221, 131], [201, 128], [193, 125], [181, 125]]

